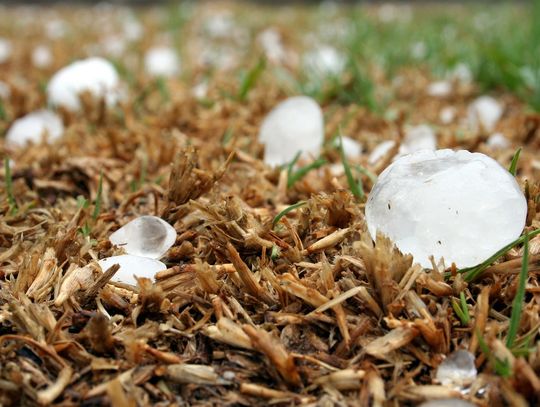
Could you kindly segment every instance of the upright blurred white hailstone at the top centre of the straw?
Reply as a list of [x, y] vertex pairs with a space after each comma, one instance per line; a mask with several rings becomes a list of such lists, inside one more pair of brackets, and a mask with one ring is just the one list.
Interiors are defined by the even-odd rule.
[[265, 145], [264, 162], [283, 165], [298, 152], [318, 156], [324, 140], [323, 113], [317, 102], [295, 96], [278, 104], [264, 119], [259, 141]]

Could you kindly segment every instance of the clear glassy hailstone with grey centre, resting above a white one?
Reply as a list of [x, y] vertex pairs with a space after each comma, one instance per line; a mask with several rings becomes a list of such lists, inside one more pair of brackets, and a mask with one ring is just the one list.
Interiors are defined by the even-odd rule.
[[109, 240], [128, 254], [159, 259], [176, 240], [176, 230], [157, 216], [140, 216], [114, 232]]

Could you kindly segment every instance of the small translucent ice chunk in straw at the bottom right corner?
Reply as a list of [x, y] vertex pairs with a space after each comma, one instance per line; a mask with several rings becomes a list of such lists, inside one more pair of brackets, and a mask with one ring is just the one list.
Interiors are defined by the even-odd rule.
[[459, 349], [448, 355], [437, 368], [435, 379], [443, 386], [461, 388], [471, 384], [476, 379], [474, 355]]

